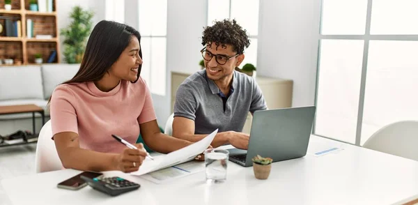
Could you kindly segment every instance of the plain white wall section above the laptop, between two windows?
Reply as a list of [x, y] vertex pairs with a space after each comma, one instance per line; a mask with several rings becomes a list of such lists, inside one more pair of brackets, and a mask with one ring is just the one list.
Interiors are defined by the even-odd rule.
[[293, 79], [293, 107], [314, 105], [320, 0], [261, 0], [258, 75]]

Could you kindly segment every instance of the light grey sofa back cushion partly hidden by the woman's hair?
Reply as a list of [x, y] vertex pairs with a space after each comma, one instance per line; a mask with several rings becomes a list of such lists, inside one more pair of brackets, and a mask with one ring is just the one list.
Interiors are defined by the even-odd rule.
[[72, 79], [79, 67], [80, 64], [42, 65], [44, 99], [49, 99], [57, 85]]

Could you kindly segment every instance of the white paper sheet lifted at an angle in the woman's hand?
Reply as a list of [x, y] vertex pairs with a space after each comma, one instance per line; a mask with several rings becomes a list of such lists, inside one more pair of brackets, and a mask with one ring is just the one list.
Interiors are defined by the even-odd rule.
[[213, 138], [217, 134], [217, 130], [210, 133], [210, 135], [201, 139], [199, 142], [190, 144], [182, 149], [173, 151], [167, 155], [159, 155], [154, 160], [149, 160], [146, 158], [142, 163], [141, 167], [137, 172], [132, 172], [132, 175], [140, 176], [142, 174], [147, 174], [149, 172], [154, 172], [166, 167], [171, 167], [173, 165], [178, 165], [189, 160], [193, 160], [196, 155], [203, 153], [212, 142]]

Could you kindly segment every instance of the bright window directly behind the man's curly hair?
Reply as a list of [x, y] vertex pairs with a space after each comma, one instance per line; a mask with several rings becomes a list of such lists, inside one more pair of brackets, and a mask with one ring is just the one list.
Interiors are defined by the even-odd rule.
[[229, 18], [237, 20], [237, 23], [247, 30], [251, 44], [245, 50], [245, 59], [241, 67], [246, 63], [257, 66], [259, 4], [259, 0], [208, 0], [208, 26], [215, 20]]

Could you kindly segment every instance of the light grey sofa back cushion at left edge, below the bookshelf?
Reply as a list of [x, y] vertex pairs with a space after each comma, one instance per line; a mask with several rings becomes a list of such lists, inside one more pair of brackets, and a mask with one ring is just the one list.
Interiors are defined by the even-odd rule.
[[43, 99], [40, 66], [0, 67], [0, 100]]

